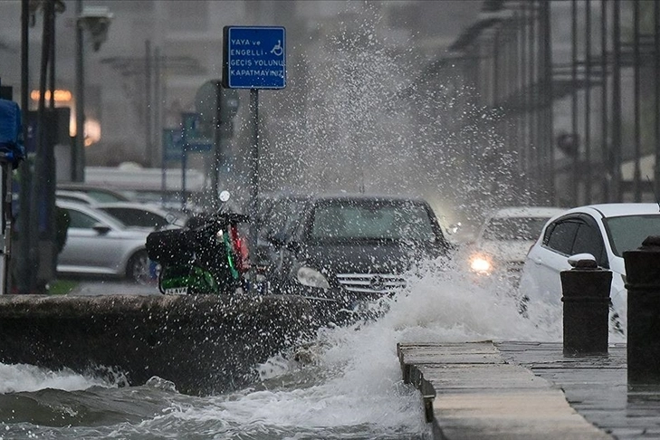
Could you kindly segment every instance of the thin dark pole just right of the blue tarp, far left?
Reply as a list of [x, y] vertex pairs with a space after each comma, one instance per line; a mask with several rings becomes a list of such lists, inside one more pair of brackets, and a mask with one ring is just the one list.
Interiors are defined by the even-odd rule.
[[[22, 0], [21, 3], [21, 111], [23, 112], [23, 139], [27, 141], [28, 136], [28, 96], [29, 96], [29, 29], [30, 29], [30, 3], [29, 0]], [[19, 293], [29, 292], [29, 273], [28, 267], [30, 252], [28, 229], [30, 227], [30, 191], [32, 189], [31, 176], [32, 170], [30, 169], [30, 160], [25, 158], [20, 165], [20, 191], [19, 191], [19, 215], [18, 215], [18, 228], [21, 231], [19, 234], [20, 252], [17, 253], [16, 258], [16, 288]], [[6, 266], [9, 266], [9, 256], [7, 256]], [[8, 281], [8, 276], [5, 276], [7, 287], [5, 292], [12, 292], [12, 282]]]

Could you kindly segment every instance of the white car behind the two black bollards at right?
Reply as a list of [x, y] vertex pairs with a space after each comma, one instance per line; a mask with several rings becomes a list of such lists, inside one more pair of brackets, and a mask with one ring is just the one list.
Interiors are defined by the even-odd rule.
[[560, 306], [560, 272], [571, 269], [569, 257], [593, 255], [598, 267], [612, 271], [610, 317], [617, 330], [625, 326], [626, 267], [623, 253], [637, 249], [649, 235], [660, 234], [660, 208], [653, 203], [579, 206], [543, 228], [523, 266], [519, 295], [525, 302]]

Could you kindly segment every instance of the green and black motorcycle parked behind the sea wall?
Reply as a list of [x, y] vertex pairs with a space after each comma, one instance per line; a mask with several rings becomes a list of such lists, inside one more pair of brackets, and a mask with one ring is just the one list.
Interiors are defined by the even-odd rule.
[[197, 220], [148, 234], [148, 257], [159, 265], [159, 292], [232, 294], [244, 288], [249, 260], [238, 225], [247, 222], [247, 215], [220, 211]]

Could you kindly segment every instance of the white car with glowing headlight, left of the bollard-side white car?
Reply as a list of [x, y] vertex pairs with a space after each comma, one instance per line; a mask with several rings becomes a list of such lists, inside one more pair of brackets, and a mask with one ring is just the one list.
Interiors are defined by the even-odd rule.
[[467, 246], [470, 271], [480, 279], [518, 282], [525, 255], [543, 226], [566, 209], [552, 206], [510, 206], [489, 215]]

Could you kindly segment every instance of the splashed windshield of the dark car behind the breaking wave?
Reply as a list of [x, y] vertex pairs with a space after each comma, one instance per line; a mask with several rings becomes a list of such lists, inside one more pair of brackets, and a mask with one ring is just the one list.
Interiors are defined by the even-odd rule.
[[317, 206], [311, 226], [316, 240], [435, 241], [422, 205], [394, 202], [332, 201]]

